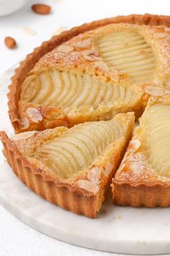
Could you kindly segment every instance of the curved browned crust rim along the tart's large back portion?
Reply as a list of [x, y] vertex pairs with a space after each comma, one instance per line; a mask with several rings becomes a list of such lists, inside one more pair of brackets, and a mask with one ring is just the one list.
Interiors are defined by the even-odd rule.
[[84, 33], [88, 30], [94, 30], [97, 27], [102, 27], [111, 23], [132, 23], [132, 24], [142, 24], [142, 25], [166, 25], [170, 26], [170, 17], [169, 16], [158, 16], [152, 14], [131, 14], [129, 16], [118, 16], [113, 18], [107, 18], [104, 20], [97, 20], [91, 23], [85, 23], [79, 27], [73, 27], [71, 30], [61, 33], [61, 35], [53, 36], [50, 40], [42, 43], [42, 46], [35, 48], [32, 54], [27, 55], [27, 58], [22, 61], [19, 65], [19, 68], [15, 69], [14, 76], [12, 77], [12, 83], [9, 85], [8, 93], [8, 106], [9, 106], [9, 118], [12, 122], [15, 132], [20, 132], [20, 121], [19, 115], [17, 112], [17, 102], [19, 100], [19, 87], [24, 81], [30, 69], [32, 69], [35, 63], [49, 51], [52, 51], [53, 48], [59, 44], [73, 38], [80, 33]]

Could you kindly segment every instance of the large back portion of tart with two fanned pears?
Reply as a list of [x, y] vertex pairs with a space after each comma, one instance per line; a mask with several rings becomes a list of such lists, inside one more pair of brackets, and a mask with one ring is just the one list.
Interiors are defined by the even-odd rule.
[[149, 95], [169, 90], [169, 17], [131, 15], [92, 22], [55, 36], [12, 78], [15, 132], [72, 127], [140, 116]]

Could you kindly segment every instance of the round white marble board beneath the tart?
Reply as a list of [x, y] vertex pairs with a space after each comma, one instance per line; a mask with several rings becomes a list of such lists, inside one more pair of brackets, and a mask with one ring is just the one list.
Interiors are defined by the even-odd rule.
[[[0, 77], [0, 129], [12, 134], [6, 91], [14, 67]], [[0, 151], [1, 151], [0, 145]], [[104, 203], [99, 218], [58, 208], [30, 191], [0, 153], [0, 203], [10, 213], [48, 236], [82, 247], [127, 254], [170, 253], [170, 208], [129, 208]]]

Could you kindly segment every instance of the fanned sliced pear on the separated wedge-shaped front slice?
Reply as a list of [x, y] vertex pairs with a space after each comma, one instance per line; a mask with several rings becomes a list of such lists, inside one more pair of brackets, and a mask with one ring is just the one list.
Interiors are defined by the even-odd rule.
[[97, 161], [123, 131], [123, 124], [116, 120], [79, 124], [36, 148], [35, 158], [61, 178], [69, 179]]

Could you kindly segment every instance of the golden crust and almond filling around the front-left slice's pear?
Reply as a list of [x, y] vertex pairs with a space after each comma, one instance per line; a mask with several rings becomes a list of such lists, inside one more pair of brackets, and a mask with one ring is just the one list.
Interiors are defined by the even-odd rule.
[[[125, 151], [134, 124], [134, 114], [117, 114], [115, 121], [122, 121], [122, 137], [109, 145], [105, 154], [92, 166], [80, 171], [71, 179], [63, 179], [52, 168], [45, 167], [42, 161], [32, 158], [36, 147], [60, 137], [68, 131], [67, 127], [47, 129], [43, 132], [31, 131], [15, 135], [11, 139], [1, 132], [4, 155], [18, 178], [27, 184], [37, 195], [57, 204], [73, 213], [83, 214], [89, 218], [97, 217], [117, 164]], [[88, 124], [88, 123], [87, 123]], [[99, 177], [96, 174], [99, 171]], [[91, 175], [90, 174], [91, 172]], [[84, 184], [85, 182], [85, 184]], [[86, 182], [88, 184], [86, 184]], [[92, 187], [91, 187], [92, 186]]]

